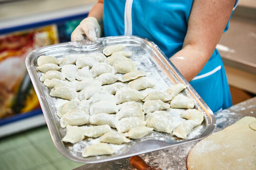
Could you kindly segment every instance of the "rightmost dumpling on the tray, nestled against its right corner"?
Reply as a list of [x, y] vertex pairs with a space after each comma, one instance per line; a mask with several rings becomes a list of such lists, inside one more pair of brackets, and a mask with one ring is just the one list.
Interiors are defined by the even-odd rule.
[[203, 121], [203, 113], [196, 109], [188, 109], [181, 113], [181, 117], [185, 119], [192, 119], [198, 122], [198, 125], [200, 125]]

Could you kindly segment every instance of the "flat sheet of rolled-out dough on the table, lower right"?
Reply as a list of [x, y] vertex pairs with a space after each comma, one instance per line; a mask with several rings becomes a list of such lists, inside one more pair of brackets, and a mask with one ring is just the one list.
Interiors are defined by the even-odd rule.
[[249, 127], [255, 121], [244, 117], [202, 139], [188, 155], [188, 170], [256, 170], [256, 131]]

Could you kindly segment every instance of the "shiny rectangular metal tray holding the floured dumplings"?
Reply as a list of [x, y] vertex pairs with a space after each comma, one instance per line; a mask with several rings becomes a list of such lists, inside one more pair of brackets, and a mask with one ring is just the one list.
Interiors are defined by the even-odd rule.
[[[132, 56], [130, 59], [136, 63], [137, 68], [147, 72], [149, 74], [148, 76], [155, 80], [156, 85], [155, 89], [153, 90], [166, 91], [168, 87], [178, 83], [187, 85], [187, 89], [183, 90], [182, 93], [192, 98], [195, 102], [195, 108], [204, 113], [204, 121], [201, 125], [193, 129], [192, 133], [187, 139], [182, 140], [174, 135], [153, 131], [150, 133], [150, 135], [147, 135], [141, 139], [132, 140], [130, 143], [121, 144], [118, 146], [116, 144], [110, 144], [110, 146], [116, 150], [116, 152], [111, 155], [92, 156], [87, 158], [82, 157], [82, 150], [89, 144], [95, 142], [96, 139], [83, 140], [76, 144], [62, 142], [62, 138], [65, 135], [65, 129], [60, 127], [59, 118], [56, 116], [56, 103], [58, 102], [58, 99], [49, 96], [50, 89], [39, 81], [39, 77], [42, 75], [42, 73], [37, 72], [37, 58], [41, 55], [52, 55], [57, 59], [63, 59], [64, 56], [68, 54], [102, 52], [106, 46], [115, 44], [126, 45], [125, 50], [132, 51]], [[215, 118], [213, 112], [201, 99], [199, 94], [184, 79], [181, 73], [174, 67], [171, 61], [157, 47], [157, 45], [155, 45], [154, 42], [138, 36], [113, 36], [99, 38], [95, 42], [66, 42], [46, 46], [29, 53], [26, 58], [26, 66], [37, 93], [37, 97], [43, 110], [55, 147], [65, 157], [73, 161], [82, 163], [97, 163], [148, 153], [167, 147], [200, 140], [210, 135], [215, 128]], [[174, 113], [170, 113], [173, 114], [172, 116], [174, 116], [174, 127], [175, 125], [178, 125], [179, 121], [183, 120], [180, 118], [178, 111], [179, 110], [175, 110]]]

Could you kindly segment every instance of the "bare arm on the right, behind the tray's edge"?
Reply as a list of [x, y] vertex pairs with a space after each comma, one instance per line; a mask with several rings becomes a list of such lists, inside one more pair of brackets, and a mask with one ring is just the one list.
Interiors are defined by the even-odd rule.
[[191, 81], [210, 59], [229, 21], [235, 0], [193, 0], [182, 50], [170, 60]]

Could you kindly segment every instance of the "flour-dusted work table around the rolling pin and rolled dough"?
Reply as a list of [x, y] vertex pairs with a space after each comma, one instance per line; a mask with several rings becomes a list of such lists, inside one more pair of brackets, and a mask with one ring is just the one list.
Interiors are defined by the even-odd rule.
[[[237, 120], [245, 117], [256, 117], [256, 97], [241, 102], [229, 109], [222, 110], [215, 115], [217, 132]], [[159, 167], [163, 170], [187, 170], [186, 160], [188, 153], [197, 142], [182, 144], [171, 148], [145, 153], [139, 155], [146, 163], [151, 166]], [[97, 164], [86, 164], [75, 170], [135, 170], [129, 165], [129, 158], [116, 161], [108, 161]]]

